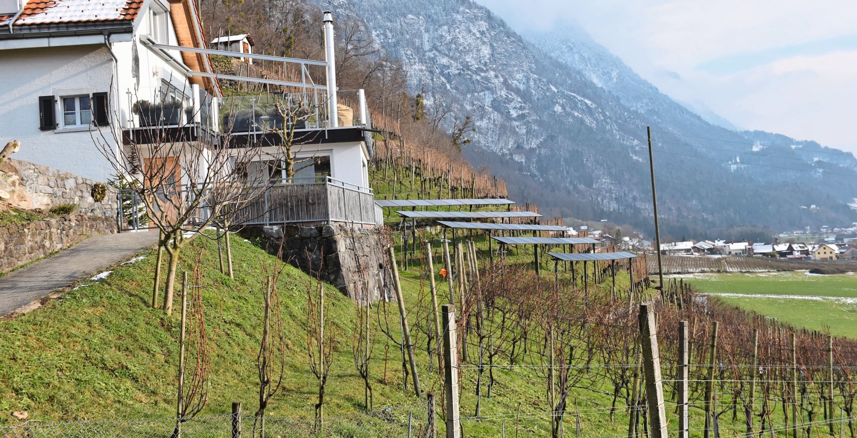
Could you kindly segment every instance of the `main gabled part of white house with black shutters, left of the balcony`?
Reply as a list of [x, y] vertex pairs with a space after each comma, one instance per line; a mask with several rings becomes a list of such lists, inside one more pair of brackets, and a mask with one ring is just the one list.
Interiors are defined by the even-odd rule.
[[205, 46], [195, 2], [23, 1], [0, 0], [0, 135], [21, 141], [15, 158], [105, 181], [116, 171], [93, 137], [119, 147], [140, 100], [217, 129], [217, 82], [192, 74], [212, 72], [207, 55], [153, 46]]

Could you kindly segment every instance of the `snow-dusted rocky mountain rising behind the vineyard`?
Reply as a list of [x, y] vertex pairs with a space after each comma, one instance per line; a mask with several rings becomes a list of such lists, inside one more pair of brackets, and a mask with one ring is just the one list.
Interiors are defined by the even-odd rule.
[[[315, 3], [362, 21], [405, 65], [409, 87], [426, 90], [429, 106], [470, 115], [476, 133], [466, 156], [505, 177], [513, 199], [650, 231], [649, 125], [667, 234], [853, 220], [851, 154], [710, 124], [579, 30], [524, 38], [469, 0]], [[812, 204], [819, 208], [801, 208]]]

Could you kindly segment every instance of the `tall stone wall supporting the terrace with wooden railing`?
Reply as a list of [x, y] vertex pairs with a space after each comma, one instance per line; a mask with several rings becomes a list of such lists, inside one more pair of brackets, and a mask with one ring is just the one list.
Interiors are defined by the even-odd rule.
[[381, 297], [395, 297], [387, 248], [376, 229], [341, 225], [257, 226], [245, 228], [244, 234], [263, 237], [265, 249], [271, 254], [277, 254], [282, 243], [284, 261], [310, 275], [321, 271], [321, 279], [351, 299], [362, 299], [364, 289], [368, 289], [373, 302]]

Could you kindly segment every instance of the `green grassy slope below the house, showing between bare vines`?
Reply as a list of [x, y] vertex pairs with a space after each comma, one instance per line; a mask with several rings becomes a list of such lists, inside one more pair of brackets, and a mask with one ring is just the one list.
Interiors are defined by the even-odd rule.
[[[216, 249], [205, 239], [197, 239], [183, 260], [183, 268], [189, 269], [197, 252], [203, 250], [207, 326], [213, 339], [212, 387], [203, 414], [228, 412], [232, 401], [242, 401], [247, 411], [256, 405], [255, 357], [261, 333], [261, 290], [265, 277], [261, 267], [273, 267], [277, 261], [240, 238], [234, 242], [237, 273], [234, 280], [219, 273]], [[529, 257], [522, 255], [521, 262], [527, 261]], [[62, 300], [15, 320], [0, 321], [0, 423], [15, 422], [9, 413], [22, 410], [41, 420], [171, 416], [176, 386], [177, 317], [167, 317], [147, 306], [152, 268], [153, 256], [149, 254], [143, 261], [117, 267], [108, 279], [98, 284], [69, 292]], [[402, 278], [416, 333], [415, 343], [425, 345], [425, 337], [419, 334], [426, 320], [425, 314], [418, 311], [419, 303], [425, 303], [421, 270], [412, 268], [403, 272]], [[285, 387], [270, 407], [276, 417], [312, 417], [315, 378], [309, 373], [302, 324], [306, 281], [306, 275], [291, 267], [285, 269], [279, 281], [290, 344]], [[626, 284], [627, 278], [620, 277], [618, 286], [624, 288]], [[444, 295], [444, 287], [439, 287]], [[326, 312], [331, 322], [328, 330], [333, 328], [339, 334], [339, 345], [328, 385], [327, 415], [345, 416], [352, 424], [336, 436], [404, 435], [401, 426], [391, 432], [389, 423], [378, 420], [377, 415], [359, 413], [363, 409], [363, 382], [357, 377], [351, 358], [356, 307], [333, 288], [328, 290], [332, 291], [327, 295]], [[398, 338], [395, 328], [398, 311], [395, 306], [388, 306], [387, 311], [393, 336]], [[405, 412], [411, 409], [419, 413], [422, 404], [411, 392], [403, 391], [399, 349], [379, 332], [377, 321], [373, 316], [375, 348], [371, 374], [375, 408], [404, 405], [393, 411], [396, 421], [404, 424]], [[417, 351], [417, 361], [424, 390], [440, 394], [440, 380], [429, 371], [428, 355], [422, 349]], [[503, 359], [498, 362], [504, 363]], [[482, 399], [482, 415], [486, 417], [478, 421], [464, 419], [467, 435], [498, 436], [503, 423], [511, 435], [518, 408], [522, 413], [522, 436], [549, 435], [548, 416], [544, 413], [548, 410], [545, 378], [530, 369], [496, 369], [495, 376], [492, 398]], [[473, 415], [475, 381], [473, 369], [461, 375], [463, 417]], [[605, 391], [609, 388], [572, 392], [572, 405], [577, 399], [582, 410], [596, 410], [581, 414], [581, 436], [624, 435], [626, 412], [620, 408], [610, 417], [604, 408], [610, 405], [612, 397]], [[674, 415], [668, 417], [675, 421]], [[362, 423], [353, 426], [357, 422]], [[567, 416], [566, 422], [566, 434], [573, 433], [573, 417]], [[698, 411], [694, 411], [692, 422], [698, 429], [701, 423]], [[731, 423], [724, 418], [722, 427], [741, 422]], [[671, 424], [672, 430], [674, 427]]]

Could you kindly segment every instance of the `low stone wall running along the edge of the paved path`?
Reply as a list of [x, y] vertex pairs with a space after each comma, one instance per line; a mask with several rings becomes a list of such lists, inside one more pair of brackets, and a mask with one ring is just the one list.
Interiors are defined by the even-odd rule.
[[0, 272], [51, 255], [89, 236], [116, 232], [116, 219], [70, 214], [0, 227]]

